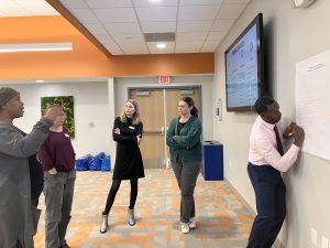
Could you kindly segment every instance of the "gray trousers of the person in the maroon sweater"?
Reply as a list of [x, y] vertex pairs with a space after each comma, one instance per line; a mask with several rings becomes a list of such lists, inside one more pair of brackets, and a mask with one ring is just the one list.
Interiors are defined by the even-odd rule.
[[45, 173], [44, 195], [46, 204], [46, 248], [58, 248], [66, 242], [66, 229], [72, 218], [76, 170]]

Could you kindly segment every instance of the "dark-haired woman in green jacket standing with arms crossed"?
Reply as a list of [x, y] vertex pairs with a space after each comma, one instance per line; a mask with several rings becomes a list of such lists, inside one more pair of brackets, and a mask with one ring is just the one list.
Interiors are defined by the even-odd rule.
[[188, 234], [196, 228], [194, 190], [201, 164], [201, 123], [190, 97], [183, 97], [167, 130], [170, 163], [182, 192], [180, 226]]

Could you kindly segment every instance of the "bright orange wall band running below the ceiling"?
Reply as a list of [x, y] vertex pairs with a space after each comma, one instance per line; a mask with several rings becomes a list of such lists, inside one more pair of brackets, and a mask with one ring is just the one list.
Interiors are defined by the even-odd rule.
[[213, 74], [215, 54], [106, 56], [63, 17], [0, 18], [0, 44], [73, 42], [74, 51], [0, 53], [0, 79]]

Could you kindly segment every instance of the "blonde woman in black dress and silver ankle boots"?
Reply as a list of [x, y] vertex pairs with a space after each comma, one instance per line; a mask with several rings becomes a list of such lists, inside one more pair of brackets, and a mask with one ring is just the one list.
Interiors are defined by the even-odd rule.
[[138, 180], [144, 177], [142, 155], [139, 148], [143, 132], [138, 103], [129, 99], [120, 117], [113, 123], [112, 136], [117, 141], [116, 164], [107, 204], [102, 213], [101, 234], [108, 230], [108, 215], [122, 180], [131, 181], [131, 197], [128, 211], [130, 226], [135, 225], [134, 205], [138, 196]]

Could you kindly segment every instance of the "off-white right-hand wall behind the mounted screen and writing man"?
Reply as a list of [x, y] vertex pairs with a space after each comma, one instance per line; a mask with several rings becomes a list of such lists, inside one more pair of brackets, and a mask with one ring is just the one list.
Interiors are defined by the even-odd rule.
[[[223, 121], [213, 118], [215, 139], [224, 144], [224, 175], [255, 209], [248, 173], [249, 136], [255, 114], [226, 112], [223, 53], [258, 13], [264, 14], [268, 83], [278, 100], [284, 123], [295, 117], [295, 63], [330, 48], [330, 1], [318, 0], [308, 9], [293, 9], [288, 0], [252, 0], [216, 54], [213, 106], [222, 98]], [[308, 133], [306, 133], [308, 136]], [[330, 144], [329, 144], [330, 145]], [[302, 153], [289, 172], [287, 218], [279, 239], [287, 248], [321, 247], [330, 238], [330, 161]], [[318, 231], [318, 246], [310, 242], [310, 228]]]

